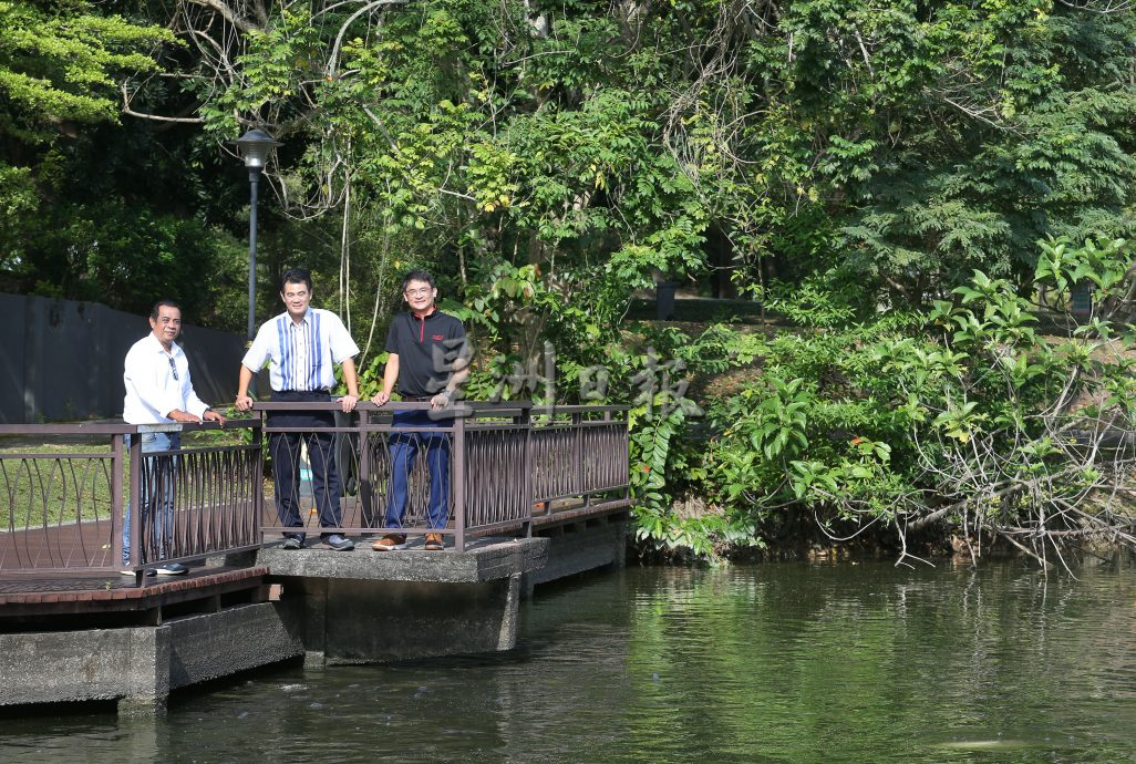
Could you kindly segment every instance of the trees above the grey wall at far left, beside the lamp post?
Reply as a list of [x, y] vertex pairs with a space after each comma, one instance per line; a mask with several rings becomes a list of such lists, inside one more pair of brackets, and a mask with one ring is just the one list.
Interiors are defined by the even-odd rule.
[[0, 2], [0, 288], [240, 326], [215, 296], [240, 284], [239, 241], [187, 213], [165, 136], [119, 126], [125, 79], [174, 35], [82, 2]]

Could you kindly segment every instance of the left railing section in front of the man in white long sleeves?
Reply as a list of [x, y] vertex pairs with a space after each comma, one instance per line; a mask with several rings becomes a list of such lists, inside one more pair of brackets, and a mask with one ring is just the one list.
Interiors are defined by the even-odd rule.
[[[219, 428], [0, 426], [0, 572], [140, 571], [259, 546], [260, 423], [226, 427], [249, 435], [143, 455], [139, 436], [147, 431], [185, 437]], [[124, 563], [124, 510], [141, 503], [150, 510], [130, 513]]]

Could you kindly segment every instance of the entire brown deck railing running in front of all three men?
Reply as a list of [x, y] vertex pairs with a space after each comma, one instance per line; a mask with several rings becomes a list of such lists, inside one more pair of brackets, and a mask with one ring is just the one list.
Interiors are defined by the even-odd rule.
[[[0, 573], [142, 571], [161, 563], [258, 547], [295, 529], [275, 507], [266, 470], [265, 434], [299, 433], [309, 446], [293, 465], [301, 475], [293, 501], [301, 531], [378, 536], [391, 502], [392, 438], [411, 433], [445, 438], [446, 524], [441, 532], [463, 549], [491, 534], [529, 535], [533, 527], [627, 506], [626, 410], [619, 406], [533, 408], [528, 402], [460, 403], [438, 427], [393, 426], [398, 411], [426, 403], [359, 404], [321, 430], [266, 427], [261, 415], [283, 410], [335, 411], [334, 403], [258, 403], [254, 415], [229, 419], [241, 435], [210, 439], [204, 425], [0, 426]], [[181, 433], [182, 447], [142, 453], [140, 435]], [[235, 440], [235, 442], [234, 442]], [[284, 450], [279, 454], [289, 453]], [[335, 464], [341, 486], [337, 523], [320, 522], [311, 463]], [[141, 464], [142, 469], [132, 465]], [[420, 453], [408, 476], [403, 528], [431, 531], [426, 518], [429, 475]], [[268, 496], [266, 497], [266, 493]], [[135, 501], [137, 497], [137, 501]], [[149, 511], [136, 512], [144, 503]], [[131, 506], [132, 539], [123, 562], [123, 523]], [[327, 519], [325, 513], [324, 519]], [[448, 544], [450, 546], [451, 544]], [[142, 577], [140, 576], [140, 580]]]

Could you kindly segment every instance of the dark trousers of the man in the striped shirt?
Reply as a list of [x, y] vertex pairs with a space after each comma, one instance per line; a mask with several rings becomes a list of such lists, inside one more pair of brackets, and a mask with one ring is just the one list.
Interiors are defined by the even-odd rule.
[[[331, 396], [320, 392], [276, 392], [276, 402], [327, 403]], [[270, 433], [268, 447], [273, 456], [273, 478], [276, 482], [276, 514], [284, 528], [302, 528], [300, 519], [300, 444], [308, 448], [311, 467], [311, 497], [319, 512], [323, 528], [339, 528], [340, 473], [335, 464], [335, 433], [320, 433], [335, 427], [331, 411], [275, 412], [268, 417], [268, 427], [287, 427], [290, 433]], [[321, 534], [327, 536], [328, 534]], [[302, 538], [303, 534], [295, 534]]]

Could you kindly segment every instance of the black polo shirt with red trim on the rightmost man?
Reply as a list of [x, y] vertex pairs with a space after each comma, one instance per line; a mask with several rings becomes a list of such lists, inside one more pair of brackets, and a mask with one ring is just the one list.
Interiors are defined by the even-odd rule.
[[453, 363], [469, 358], [466, 327], [434, 309], [425, 319], [399, 313], [386, 335], [386, 351], [399, 355], [399, 393], [412, 397], [436, 395], [453, 376]]

